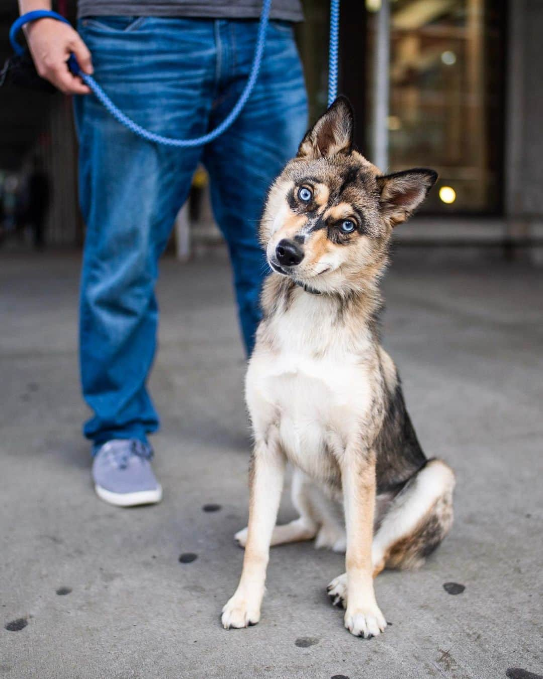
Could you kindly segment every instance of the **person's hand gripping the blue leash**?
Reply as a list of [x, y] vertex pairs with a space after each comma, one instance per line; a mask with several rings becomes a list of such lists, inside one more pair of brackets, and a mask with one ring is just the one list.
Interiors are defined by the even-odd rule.
[[67, 60], [75, 54], [84, 73], [92, 73], [92, 59], [87, 45], [77, 31], [56, 19], [37, 19], [26, 24], [26, 41], [36, 70], [64, 94], [88, 94], [90, 89], [68, 69]]

